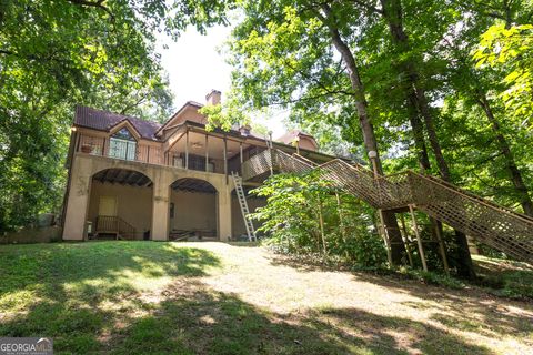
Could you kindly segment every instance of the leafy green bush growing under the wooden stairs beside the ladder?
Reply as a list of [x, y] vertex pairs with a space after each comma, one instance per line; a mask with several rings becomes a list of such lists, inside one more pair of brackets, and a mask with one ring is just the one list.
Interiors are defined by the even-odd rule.
[[252, 216], [261, 221], [259, 231], [266, 233], [268, 243], [276, 248], [340, 256], [361, 266], [385, 263], [370, 209], [334, 189], [320, 171], [274, 175], [253, 193], [266, 197], [266, 206]]

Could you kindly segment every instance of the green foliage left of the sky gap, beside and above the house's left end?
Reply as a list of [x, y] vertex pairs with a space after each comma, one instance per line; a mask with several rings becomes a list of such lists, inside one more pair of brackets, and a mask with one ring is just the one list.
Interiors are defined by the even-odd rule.
[[227, 23], [230, 3], [0, 3], [0, 233], [59, 212], [76, 104], [162, 121], [172, 94], [155, 33]]

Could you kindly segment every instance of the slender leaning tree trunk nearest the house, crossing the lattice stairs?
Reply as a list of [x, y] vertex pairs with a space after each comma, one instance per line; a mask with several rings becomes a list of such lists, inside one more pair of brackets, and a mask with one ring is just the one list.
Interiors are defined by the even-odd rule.
[[[330, 29], [331, 39], [335, 49], [341, 53], [342, 60], [348, 69], [348, 74], [350, 78], [350, 83], [354, 91], [355, 99], [355, 109], [358, 110], [359, 124], [363, 133], [364, 148], [366, 152], [374, 151], [378, 153], [375, 159], [378, 165], [378, 172], [380, 175], [383, 174], [383, 166], [381, 164], [381, 159], [378, 150], [378, 141], [374, 134], [374, 126], [370, 121], [368, 102], [364, 97], [364, 87], [359, 74], [359, 68], [355, 63], [355, 58], [352, 54], [352, 51], [346, 43], [341, 38], [339, 29], [334, 26], [334, 19], [331, 13], [331, 8], [323, 3], [322, 10], [324, 11], [325, 18], [323, 19], [324, 24]], [[400, 233], [400, 227], [398, 225], [396, 216], [394, 212], [383, 211], [383, 220], [386, 226], [388, 236], [391, 245], [392, 263], [395, 265], [401, 265], [403, 256], [405, 255], [405, 245], [403, 243], [402, 234]]]

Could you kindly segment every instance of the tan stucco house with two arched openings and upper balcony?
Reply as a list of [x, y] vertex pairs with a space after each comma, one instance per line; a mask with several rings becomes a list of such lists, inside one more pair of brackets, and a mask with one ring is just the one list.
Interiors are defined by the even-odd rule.
[[[220, 102], [211, 91], [207, 104]], [[202, 104], [189, 101], [164, 124], [77, 106], [67, 168], [63, 240], [120, 236], [165, 241], [182, 236], [230, 240], [245, 234], [231, 172], [245, 191], [272, 170], [269, 140], [249, 128], [205, 130]], [[314, 139], [292, 131], [272, 142], [321, 163]], [[248, 197], [253, 212], [264, 204]]]

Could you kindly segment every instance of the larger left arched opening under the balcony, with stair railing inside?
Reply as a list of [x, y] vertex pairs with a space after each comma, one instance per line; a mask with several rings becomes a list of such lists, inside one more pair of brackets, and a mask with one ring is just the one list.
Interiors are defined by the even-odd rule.
[[149, 240], [153, 184], [141, 172], [105, 169], [92, 176], [90, 239]]

